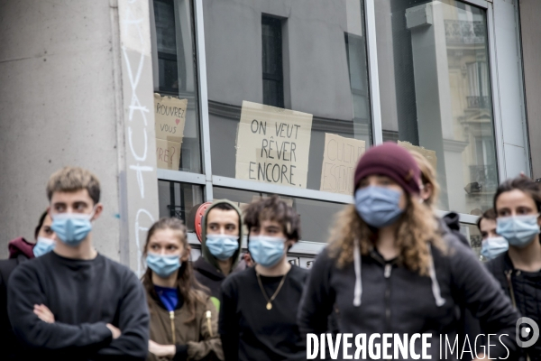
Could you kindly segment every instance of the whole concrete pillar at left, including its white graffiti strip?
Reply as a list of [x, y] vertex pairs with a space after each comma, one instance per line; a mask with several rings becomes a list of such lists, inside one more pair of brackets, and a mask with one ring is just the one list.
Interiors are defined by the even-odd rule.
[[0, 22], [0, 257], [77, 165], [101, 181], [97, 250], [136, 270], [158, 217], [148, 0], [6, 2]]

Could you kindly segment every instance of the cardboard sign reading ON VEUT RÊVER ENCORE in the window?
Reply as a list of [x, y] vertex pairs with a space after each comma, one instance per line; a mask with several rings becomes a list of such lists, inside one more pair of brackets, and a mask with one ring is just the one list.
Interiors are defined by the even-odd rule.
[[312, 115], [243, 101], [235, 178], [307, 188]]

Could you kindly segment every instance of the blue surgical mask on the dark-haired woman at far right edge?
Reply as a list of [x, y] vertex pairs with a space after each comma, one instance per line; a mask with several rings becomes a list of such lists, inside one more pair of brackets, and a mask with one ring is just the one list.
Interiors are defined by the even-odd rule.
[[496, 233], [509, 242], [522, 248], [529, 245], [539, 234], [538, 214], [527, 216], [502, 217], [497, 219]]

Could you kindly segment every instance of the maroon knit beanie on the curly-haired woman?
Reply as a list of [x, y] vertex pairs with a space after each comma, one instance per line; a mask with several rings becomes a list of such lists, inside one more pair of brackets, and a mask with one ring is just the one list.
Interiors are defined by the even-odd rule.
[[408, 150], [396, 143], [386, 142], [376, 145], [362, 155], [355, 170], [354, 190], [357, 190], [359, 182], [364, 177], [373, 174], [388, 176], [408, 193], [420, 192], [419, 166]]

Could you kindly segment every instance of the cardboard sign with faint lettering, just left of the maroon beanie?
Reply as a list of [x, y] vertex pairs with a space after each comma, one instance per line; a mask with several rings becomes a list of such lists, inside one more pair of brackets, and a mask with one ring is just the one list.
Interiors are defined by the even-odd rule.
[[319, 190], [352, 195], [355, 168], [365, 151], [364, 141], [326, 133]]

